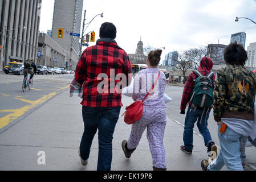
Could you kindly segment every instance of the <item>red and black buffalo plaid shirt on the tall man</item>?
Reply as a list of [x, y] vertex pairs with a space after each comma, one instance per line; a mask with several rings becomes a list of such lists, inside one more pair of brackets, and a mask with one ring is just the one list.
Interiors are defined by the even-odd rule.
[[[125, 86], [128, 86], [128, 82], [131, 82], [129, 77], [132, 76], [131, 63], [128, 54], [117, 46], [115, 40], [99, 39], [95, 46], [85, 49], [75, 71], [75, 80], [80, 85], [84, 82], [81, 104], [89, 107], [123, 106], [121, 93], [110, 89], [113, 88], [113, 83], [116, 86], [121, 81], [120, 78], [116, 78], [119, 73], [126, 76]], [[104, 89], [104, 92], [100, 93], [97, 89]]]

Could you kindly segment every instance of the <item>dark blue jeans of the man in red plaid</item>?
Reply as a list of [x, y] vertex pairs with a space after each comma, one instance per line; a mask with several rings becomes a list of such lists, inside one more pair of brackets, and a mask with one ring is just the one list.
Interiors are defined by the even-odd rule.
[[82, 107], [84, 133], [80, 143], [80, 154], [87, 160], [94, 135], [98, 130], [99, 154], [97, 171], [110, 171], [112, 162], [112, 139], [121, 107]]

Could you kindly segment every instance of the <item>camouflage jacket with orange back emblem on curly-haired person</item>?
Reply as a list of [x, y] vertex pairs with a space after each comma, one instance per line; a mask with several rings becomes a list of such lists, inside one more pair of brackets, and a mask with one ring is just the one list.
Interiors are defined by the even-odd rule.
[[242, 65], [227, 64], [217, 73], [213, 91], [213, 115], [221, 118], [254, 119], [256, 75]]

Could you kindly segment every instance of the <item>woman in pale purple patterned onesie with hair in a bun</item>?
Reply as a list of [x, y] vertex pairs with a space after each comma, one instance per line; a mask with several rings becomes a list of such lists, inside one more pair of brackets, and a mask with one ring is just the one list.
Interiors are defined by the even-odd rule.
[[[152, 85], [159, 76], [157, 65], [160, 62], [162, 50], [157, 49], [148, 54], [147, 69], [143, 69], [135, 76], [132, 99], [141, 101], [151, 89]], [[147, 139], [152, 154], [153, 170], [165, 171], [165, 148], [164, 130], [166, 125], [166, 113], [164, 102], [164, 89], [166, 77], [160, 72], [159, 80], [152, 95], [148, 96], [143, 102], [143, 117], [132, 125], [130, 137], [123, 140], [122, 148], [126, 158], [130, 158], [132, 152], [138, 146], [144, 130], [147, 128]]]

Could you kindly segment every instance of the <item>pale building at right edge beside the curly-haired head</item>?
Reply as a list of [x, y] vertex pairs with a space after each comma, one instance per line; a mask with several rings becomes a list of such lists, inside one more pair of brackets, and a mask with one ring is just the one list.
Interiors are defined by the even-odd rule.
[[251, 71], [256, 69], [256, 42], [250, 43], [250, 45], [247, 47], [247, 57], [248, 60], [245, 62], [245, 66]]

